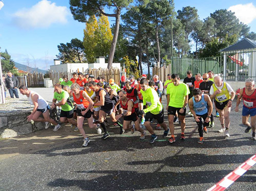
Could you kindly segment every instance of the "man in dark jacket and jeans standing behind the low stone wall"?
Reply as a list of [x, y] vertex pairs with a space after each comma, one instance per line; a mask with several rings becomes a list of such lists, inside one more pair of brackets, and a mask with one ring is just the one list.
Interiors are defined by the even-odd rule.
[[9, 90], [11, 98], [14, 98], [13, 94], [15, 95], [15, 98], [19, 98], [18, 97], [18, 87], [19, 87], [18, 79], [17, 77], [12, 75], [11, 71], [8, 71], [8, 76], [5, 79], [5, 85], [6, 85], [6, 88]]

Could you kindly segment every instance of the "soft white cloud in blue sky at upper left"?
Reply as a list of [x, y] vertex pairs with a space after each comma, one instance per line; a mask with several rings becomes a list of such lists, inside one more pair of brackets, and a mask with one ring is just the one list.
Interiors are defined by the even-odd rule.
[[67, 23], [70, 14], [67, 7], [56, 6], [42, 0], [29, 9], [22, 9], [13, 14], [13, 22], [23, 29], [48, 28], [53, 23]]

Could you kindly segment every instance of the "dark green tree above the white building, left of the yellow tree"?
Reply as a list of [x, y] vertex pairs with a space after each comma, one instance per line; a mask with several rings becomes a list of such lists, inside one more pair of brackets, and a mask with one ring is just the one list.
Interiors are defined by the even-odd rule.
[[63, 63], [83, 63], [85, 61], [84, 46], [81, 40], [73, 38], [70, 43], [60, 43], [57, 47], [60, 53], [56, 57]]

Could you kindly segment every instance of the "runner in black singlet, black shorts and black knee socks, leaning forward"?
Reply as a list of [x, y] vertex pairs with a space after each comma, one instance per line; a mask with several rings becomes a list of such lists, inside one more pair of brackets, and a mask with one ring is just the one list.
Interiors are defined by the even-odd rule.
[[96, 94], [96, 101], [93, 104], [93, 106], [101, 106], [100, 113], [99, 113], [99, 122], [104, 130], [103, 139], [108, 138], [110, 135], [107, 131], [107, 124], [104, 122], [106, 119], [106, 115], [108, 114], [112, 120], [112, 122], [116, 123], [120, 127], [120, 134], [123, 134], [125, 131], [123, 129], [123, 125], [119, 120], [115, 120], [115, 113], [113, 112], [114, 109], [114, 103], [110, 99], [109, 94], [106, 92], [105, 89], [100, 88], [96, 85], [95, 82], [91, 81], [89, 83], [89, 87], [95, 92]]

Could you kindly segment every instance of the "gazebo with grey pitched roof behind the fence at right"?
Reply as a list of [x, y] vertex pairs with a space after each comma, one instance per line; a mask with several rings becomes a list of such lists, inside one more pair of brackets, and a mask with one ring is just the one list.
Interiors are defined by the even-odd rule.
[[256, 81], [256, 41], [244, 38], [221, 50], [224, 81]]

